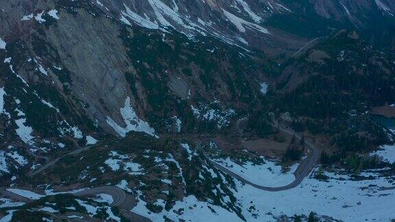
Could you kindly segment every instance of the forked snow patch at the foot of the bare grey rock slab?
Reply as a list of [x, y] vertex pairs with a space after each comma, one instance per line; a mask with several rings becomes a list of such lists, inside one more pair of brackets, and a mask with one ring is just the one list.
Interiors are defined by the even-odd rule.
[[120, 110], [126, 127], [119, 126], [117, 123], [115, 123], [115, 121], [107, 116], [108, 125], [110, 125], [119, 135], [126, 136], [128, 132], [135, 131], [145, 132], [151, 136], [156, 136], [155, 130], [149, 127], [147, 122], [139, 119], [139, 116], [137, 116], [136, 112], [134, 112], [134, 109], [130, 105], [130, 97], [125, 99], [125, 106]]

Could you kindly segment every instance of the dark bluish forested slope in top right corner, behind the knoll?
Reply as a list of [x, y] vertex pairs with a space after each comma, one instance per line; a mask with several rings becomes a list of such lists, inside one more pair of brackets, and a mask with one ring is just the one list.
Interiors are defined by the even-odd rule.
[[[326, 5], [325, 2], [285, 0], [283, 3], [293, 8], [293, 12], [274, 14], [265, 21], [266, 25], [307, 38], [331, 36], [334, 30], [339, 29], [356, 29], [363, 39], [368, 40], [378, 49], [389, 53], [395, 49], [395, 18], [383, 12], [374, 1], [366, 1], [361, 5], [352, 2], [327, 2], [331, 6], [327, 5], [328, 8], [324, 10], [328, 12], [326, 15], [325, 12], [320, 14], [317, 10], [320, 5]], [[357, 7], [360, 13], [351, 12], [350, 16], [347, 16], [342, 4], [348, 5], [349, 9]], [[337, 14], [336, 10], [331, 12], [334, 8], [338, 8], [341, 11], [340, 14]], [[326, 18], [328, 16], [330, 18]], [[363, 25], [359, 25], [360, 23]]]

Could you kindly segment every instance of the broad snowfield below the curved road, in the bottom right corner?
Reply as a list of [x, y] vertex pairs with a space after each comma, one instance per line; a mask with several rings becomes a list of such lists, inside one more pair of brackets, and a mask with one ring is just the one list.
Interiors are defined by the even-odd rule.
[[[347, 175], [325, 174], [334, 179], [320, 182], [306, 178], [298, 187], [279, 192], [266, 192], [237, 182], [235, 197], [244, 206], [247, 221], [274, 221], [271, 214], [308, 215], [311, 211], [343, 221], [390, 221], [394, 216], [395, 194], [393, 190], [381, 189], [393, 185], [384, 178], [351, 181]], [[250, 206], [259, 209], [259, 218], [248, 213]]]

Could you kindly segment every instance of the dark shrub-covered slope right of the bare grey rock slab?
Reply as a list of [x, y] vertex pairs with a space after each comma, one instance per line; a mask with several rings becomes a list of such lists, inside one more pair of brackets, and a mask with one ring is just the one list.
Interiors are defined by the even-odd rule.
[[198, 121], [191, 110], [191, 105], [213, 104], [215, 99], [222, 103], [215, 110], [231, 107], [248, 113], [266, 106], [256, 83], [264, 69], [237, 47], [202, 36], [190, 40], [178, 32], [148, 33], [139, 27], [120, 32], [136, 69], [125, 73], [130, 90], [136, 101], [147, 99], [147, 119], [160, 132], [173, 115], [180, 116], [184, 132], [217, 131], [216, 121]]

